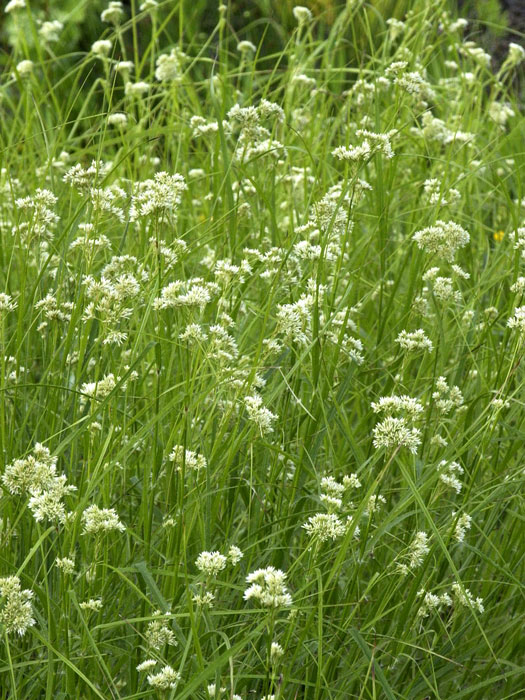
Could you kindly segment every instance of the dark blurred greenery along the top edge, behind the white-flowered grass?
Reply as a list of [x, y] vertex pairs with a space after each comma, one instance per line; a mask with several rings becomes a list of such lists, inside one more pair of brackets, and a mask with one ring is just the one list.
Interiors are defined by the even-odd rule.
[[[2, 5], [5, 5], [2, 2]], [[136, 13], [142, 0], [124, 0], [123, 5]], [[100, 13], [107, 7], [106, 0], [30, 0], [31, 14], [35, 20], [59, 20], [65, 26], [61, 43], [67, 45], [71, 52], [88, 51], [93, 41], [100, 38]], [[209, 35], [217, 24], [220, 2], [218, 0], [182, 0], [184, 16], [184, 40], [186, 43], [201, 41]], [[296, 26], [292, 9], [297, 4], [310, 8], [317, 19], [319, 34], [328, 34], [336, 18], [343, 8], [348, 11], [358, 6], [368, 7], [368, 16], [372, 29], [378, 28], [385, 18], [402, 19], [407, 10], [420, 9], [424, 4], [421, 0], [226, 0], [228, 6], [228, 22], [239, 39], [248, 39], [257, 46], [261, 45], [262, 53], [281, 51], [289, 34]], [[159, 2], [160, 22], [168, 19], [166, 30], [178, 39], [179, 32], [179, 0], [163, 0]], [[525, 3], [523, 0], [450, 0], [449, 9], [459, 10], [460, 14], [472, 19], [472, 31], [483, 35], [483, 42], [496, 44], [506, 35], [509, 40], [518, 41], [523, 38], [525, 30]], [[34, 43], [33, 30], [25, 13], [16, 13], [13, 17], [0, 17], [0, 42], [2, 60], [10, 49], [25, 42], [28, 46]], [[170, 18], [171, 20], [170, 21]], [[143, 37], [144, 42], [147, 37]], [[365, 37], [363, 36], [363, 41]]]

